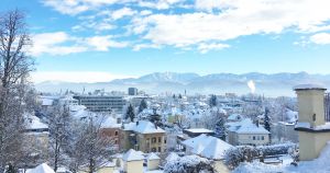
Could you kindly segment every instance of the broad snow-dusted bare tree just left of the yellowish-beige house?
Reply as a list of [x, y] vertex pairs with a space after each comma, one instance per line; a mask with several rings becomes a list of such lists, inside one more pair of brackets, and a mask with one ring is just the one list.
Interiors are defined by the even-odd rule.
[[73, 152], [70, 153], [73, 172], [87, 171], [94, 173], [113, 154], [114, 140], [103, 134], [102, 123], [105, 115], [90, 115], [80, 123], [77, 129]]

